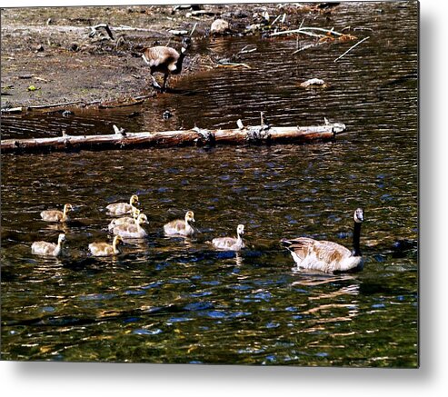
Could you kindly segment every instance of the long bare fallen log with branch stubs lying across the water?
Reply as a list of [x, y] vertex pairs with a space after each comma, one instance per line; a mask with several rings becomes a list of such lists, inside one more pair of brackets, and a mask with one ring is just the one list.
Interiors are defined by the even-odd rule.
[[227, 130], [191, 130], [125, 133], [114, 127], [115, 134], [67, 135], [52, 138], [5, 139], [2, 154], [32, 154], [48, 152], [77, 152], [80, 150], [133, 149], [143, 147], [172, 147], [214, 144], [305, 144], [331, 141], [345, 131], [342, 123], [326, 123], [307, 127], [273, 127], [268, 125]]

